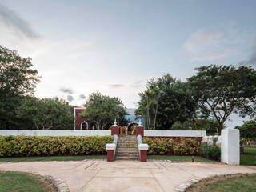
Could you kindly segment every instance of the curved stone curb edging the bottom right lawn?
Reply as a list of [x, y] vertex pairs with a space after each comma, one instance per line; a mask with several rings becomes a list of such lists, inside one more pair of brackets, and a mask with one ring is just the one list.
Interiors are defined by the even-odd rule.
[[[236, 173], [236, 174], [240, 174], [240, 173]], [[185, 182], [185, 183], [182, 183], [179, 186], [176, 186], [174, 188], [174, 192], [186, 192], [186, 190], [188, 190], [190, 188], [190, 186], [193, 186], [195, 183], [200, 182], [201, 180], [206, 179], [206, 178], [216, 178], [216, 177], [219, 177], [219, 176], [230, 176], [230, 175], [233, 175], [233, 174], [228, 174], [228, 173], [225, 173], [225, 174], [210, 174], [210, 175], [206, 176], [205, 178], [190, 179], [188, 182]]]

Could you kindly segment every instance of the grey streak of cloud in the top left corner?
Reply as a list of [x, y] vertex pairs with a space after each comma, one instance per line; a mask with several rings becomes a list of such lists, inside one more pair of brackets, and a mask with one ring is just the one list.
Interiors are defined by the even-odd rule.
[[39, 35], [32, 30], [30, 25], [21, 18], [14, 10], [0, 4], [0, 23], [16, 34], [25, 35], [27, 38], [39, 38]]

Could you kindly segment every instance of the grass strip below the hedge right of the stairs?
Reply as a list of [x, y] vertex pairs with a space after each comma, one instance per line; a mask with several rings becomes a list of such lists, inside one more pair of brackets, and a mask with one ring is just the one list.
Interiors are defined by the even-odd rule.
[[[192, 156], [176, 156], [176, 155], [148, 155], [148, 159], [158, 159], [158, 160], [170, 160], [173, 162], [192, 162]], [[194, 156], [194, 162], [215, 162], [207, 158], [202, 158], [200, 156]]]

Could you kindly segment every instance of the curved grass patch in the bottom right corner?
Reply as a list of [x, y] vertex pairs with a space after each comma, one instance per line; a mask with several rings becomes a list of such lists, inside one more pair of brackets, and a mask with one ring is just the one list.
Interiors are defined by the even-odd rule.
[[256, 174], [238, 178], [227, 178], [205, 186], [201, 192], [252, 192], [256, 191]]

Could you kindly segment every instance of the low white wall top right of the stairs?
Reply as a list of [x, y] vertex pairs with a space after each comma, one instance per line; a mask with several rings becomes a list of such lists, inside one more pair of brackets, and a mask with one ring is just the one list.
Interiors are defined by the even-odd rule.
[[145, 137], [204, 137], [206, 130], [144, 130]]

